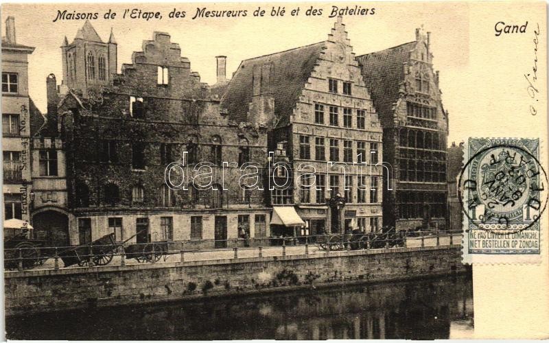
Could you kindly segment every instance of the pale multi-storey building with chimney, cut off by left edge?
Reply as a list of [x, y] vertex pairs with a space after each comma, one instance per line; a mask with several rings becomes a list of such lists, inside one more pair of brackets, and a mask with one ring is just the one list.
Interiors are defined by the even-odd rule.
[[28, 56], [34, 47], [16, 42], [15, 19], [5, 21], [2, 37], [2, 150], [4, 220], [30, 221], [30, 113], [38, 113], [29, 96]]

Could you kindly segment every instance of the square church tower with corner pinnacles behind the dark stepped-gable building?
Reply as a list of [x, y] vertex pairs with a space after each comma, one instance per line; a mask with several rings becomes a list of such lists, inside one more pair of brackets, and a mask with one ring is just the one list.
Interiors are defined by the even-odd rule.
[[71, 44], [63, 40], [62, 84], [69, 89], [82, 91], [83, 97], [110, 84], [117, 71], [117, 43], [113, 30], [104, 43], [89, 21], [78, 29]]

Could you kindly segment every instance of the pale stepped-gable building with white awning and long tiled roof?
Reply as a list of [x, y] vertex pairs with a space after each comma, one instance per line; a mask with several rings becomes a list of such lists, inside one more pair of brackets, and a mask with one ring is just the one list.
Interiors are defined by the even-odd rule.
[[270, 128], [274, 161], [291, 167], [287, 187], [271, 192], [274, 212], [297, 213], [302, 234], [382, 227], [382, 167], [353, 165], [382, 161], [382, 129], [341, 18], [323, 42], [242, 61], [222, 107]]

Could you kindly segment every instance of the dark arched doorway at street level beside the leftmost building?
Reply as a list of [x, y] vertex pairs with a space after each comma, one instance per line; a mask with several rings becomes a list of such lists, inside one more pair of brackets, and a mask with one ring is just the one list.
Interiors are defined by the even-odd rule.
[[34, 235], [47, 246], [69, 246], [69, 217], [58, 211], [43, 211], [32, 217]]

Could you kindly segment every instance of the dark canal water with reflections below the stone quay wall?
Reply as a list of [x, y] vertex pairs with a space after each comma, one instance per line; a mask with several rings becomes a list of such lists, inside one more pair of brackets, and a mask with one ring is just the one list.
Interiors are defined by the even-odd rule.
[[6, 318], [12, 340], [468, 338], [469, 276]]

